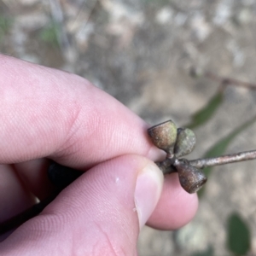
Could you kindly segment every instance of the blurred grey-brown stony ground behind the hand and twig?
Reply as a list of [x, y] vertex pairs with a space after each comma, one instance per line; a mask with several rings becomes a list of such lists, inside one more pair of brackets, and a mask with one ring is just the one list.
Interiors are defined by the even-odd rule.
[[[223, 77], [256, 83], [256, 1], [0, 0], [0, 51], [77, 73], [150, 125], [182, 126], [217, 96]], [[220, 79], [195, 78], [192, 69]], [[255, 90], [230, 83], [221, 96], [195, 125], [189, 159], [255, 119]], [[256, 148], [255, 129], [242, 127], [225, 153]], [[234, 212], [241, 230], [233, 234], [249, 236], [236, 255], [256, 255], [255, 183], [256, 161], [215, 167], [195, 219], [175, 231], [145, 227], [139, 255], [235, 255], [227, 243]]]

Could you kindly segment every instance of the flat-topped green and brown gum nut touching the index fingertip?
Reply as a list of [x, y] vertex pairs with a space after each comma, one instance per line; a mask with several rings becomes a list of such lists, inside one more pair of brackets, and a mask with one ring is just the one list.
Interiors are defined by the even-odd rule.
[[168, 120], [148, 129], [148, 135], [157, 148], [163, 149], [166, 153], [173, 153], [177, 138], [177, 126]]

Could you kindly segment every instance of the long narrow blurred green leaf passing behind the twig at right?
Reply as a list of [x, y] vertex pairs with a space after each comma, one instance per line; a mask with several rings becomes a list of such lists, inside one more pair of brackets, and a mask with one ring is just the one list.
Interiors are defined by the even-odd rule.
[[[249, 121], [243, 123], [239, 127], [237, 127], [234, 131], [231, 131], [230, 134], [228, 134], [226, 137], [222, 138], [218, 143], [215, 143], [212, 148], [210, 148], [207, 153], [203, 156], [203, 158], [210, 158], [219, 156], [221, 154], [224, 154], [226, 149], [230, 146], [230, 143], [242, 132], [244, 131], [248, 126], [253, 125], [253, 123], [256, 121], [256, 117], [253, 117], [253, 119], [250, 119]], [[212, 166], [206, 167], [204, 169], [205, 174], [207, 177], [210, 176], [212, 172]], [[202, 196], [204, 194], [205, 189], [202, 188], [198, 195]]]

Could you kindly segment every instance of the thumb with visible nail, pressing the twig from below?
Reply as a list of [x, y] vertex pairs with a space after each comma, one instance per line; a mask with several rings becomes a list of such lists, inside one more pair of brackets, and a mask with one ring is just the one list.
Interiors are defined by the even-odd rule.
[[136, 255], [139, 230], [154, 211], [162, 184], [158, 167], [142, 156], [104, 162], [15, 230], [0, 250], [4, 255]]

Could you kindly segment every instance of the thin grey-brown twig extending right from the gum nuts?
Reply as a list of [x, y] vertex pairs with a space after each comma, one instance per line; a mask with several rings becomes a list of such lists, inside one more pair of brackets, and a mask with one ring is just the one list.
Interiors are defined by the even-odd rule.
[[236, 154], [225, 154], [218, 157], [189, 160], [191, 166], [197, 168], [204, 168], [207, 166], [220, 166], [230, 163], [236, 163], [245, 160], [254, 160], [256, 158], [256, 150], [240, 152]]

